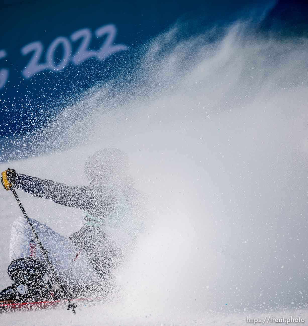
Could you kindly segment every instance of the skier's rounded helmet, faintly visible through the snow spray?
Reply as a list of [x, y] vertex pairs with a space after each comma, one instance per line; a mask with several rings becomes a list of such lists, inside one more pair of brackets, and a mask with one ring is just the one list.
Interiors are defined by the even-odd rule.
[[117, 148], [104, 148], [92, 154], [85, 162], [85, 174], [92, 184], [131, 184], [128, 156]]

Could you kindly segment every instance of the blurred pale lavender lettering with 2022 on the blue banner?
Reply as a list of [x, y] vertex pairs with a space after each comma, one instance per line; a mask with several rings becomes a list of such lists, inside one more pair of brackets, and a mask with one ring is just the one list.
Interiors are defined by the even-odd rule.
[[[57, 37], [49, 45], [46, 51], [45, 63], [40, 62], [44, 50], [42, 42], [36, 41], [27, 44], [21, 49], [21, 53], [23, 55], [27, 55], [33, 52], [33, 54], [29, 63], [23, 69], [22, 75], [25, 79], [29, 79], [43, 70], [49, 69], [55, 72], [61, 71], [69, 64], [69, 62], [72, 62], [75, 65], [80, 65], [90, 57], [96, 57], [99, 60], [104, 60], [113, 53], [127, 50], [128, 47], [124, 44], [113, 44], [116, 37], [116, 32], [117, 29], [113, 24], [104, 25], [94, 32], [96, 37], [103, 37], [106, 35], [106, 38], [104, 39], [104, 42], [102, 43], [99, 50], [89, 50], [89, 45], [92, 39], [92, 32], [89, 28], [83, 28], [74, 32], [70, 36], [70, 40], [62, 36]], [[72, 46], [70, 41], [76, 42], [79, 39], [82, 39], [79, 48], [74, 53], [74, 55], [71, 56]], [[55, 65], [54, 52], [59, 46], [63, 47], [63, 57], [61, 61]], [[0, 59], [6, 56], [7, 53], [4, 50], [1, 50]], [[0, 89], [7, 83], [8, 75], [8, 69], [0, 69]]]

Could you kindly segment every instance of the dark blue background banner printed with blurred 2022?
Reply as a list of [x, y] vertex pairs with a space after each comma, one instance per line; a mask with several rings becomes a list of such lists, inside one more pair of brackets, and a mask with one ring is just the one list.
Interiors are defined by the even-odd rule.
[[[286, 6], [280, 3], [276, 16]], [[236, 19], [234, 13], [245, 6], [200, 0], [2, 1], [0, 139], [42, 126], [86, 89], [125, 74], [138, 49], [180, 17], [202, 17], [194, 26], [201, 30], [204, 22]]]

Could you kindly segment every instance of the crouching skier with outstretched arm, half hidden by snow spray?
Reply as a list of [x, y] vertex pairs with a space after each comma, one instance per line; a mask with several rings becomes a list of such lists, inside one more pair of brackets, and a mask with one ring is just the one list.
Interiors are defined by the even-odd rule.
[[[95, 152], [85, 163], [88, 186], [69, 186], [8, 169], [2, 182], [35, 197], [85, 211], [85, 224], [69, 239], [31, 219], [49, 259], [67, 287], [78, 288], [107, 280], [143, 228], [143, 196], [133, 187], [125, 153], [115, 148]], [[52, 282], [25, 219], [12, 226], [8, 274], [14, 284], [0, 292], [0, 301], [48, 296]]]

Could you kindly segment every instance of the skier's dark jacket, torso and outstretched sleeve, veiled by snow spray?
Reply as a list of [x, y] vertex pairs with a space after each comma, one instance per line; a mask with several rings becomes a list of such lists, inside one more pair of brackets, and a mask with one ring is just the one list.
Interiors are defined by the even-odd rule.
[[132, 240], [143, 228], [145, 200], [133, 187], [69, 186], [19, 173], [14, 186], [33, 196], [84, 210], [85, 224], [100, 226], [115, 241]]

